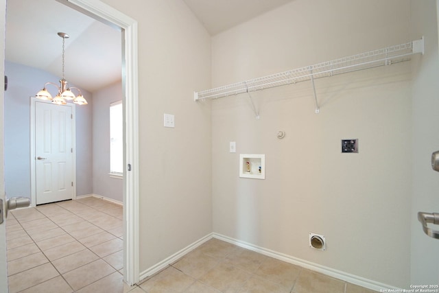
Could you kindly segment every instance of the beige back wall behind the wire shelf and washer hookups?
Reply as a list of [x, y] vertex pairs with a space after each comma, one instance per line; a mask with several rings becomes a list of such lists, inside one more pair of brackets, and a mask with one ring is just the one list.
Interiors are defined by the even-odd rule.
[[[221, 86], [410, 41], [410, 1], [296, 0], [213, 37]], [[410, 62], [212, 102], [213, 231], [380, 283], [410, 285]], [[278, 140], [278, 130], [286, 132]], [[341, 139], [359, 139], [341, 154]], [[237, 153], [228, 142], [237, 142]], [[238, 177], [265, 154], [265, 180]], [[309, 232], [327, 250], [309, 248]]]

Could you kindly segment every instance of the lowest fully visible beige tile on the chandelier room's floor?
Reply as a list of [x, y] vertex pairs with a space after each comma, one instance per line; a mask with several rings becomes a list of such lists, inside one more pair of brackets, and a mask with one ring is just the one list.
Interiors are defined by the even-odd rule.
[[67, 283], [71, 285], [73, 290], [80, 290], [86, 285], [90, 285], [113, 272], [115, 272], [114, 268], [102, 259], [98, 259], [97, 261], [88, 263], [85, 266], [66, 272], [63, 274], [63, 277]]

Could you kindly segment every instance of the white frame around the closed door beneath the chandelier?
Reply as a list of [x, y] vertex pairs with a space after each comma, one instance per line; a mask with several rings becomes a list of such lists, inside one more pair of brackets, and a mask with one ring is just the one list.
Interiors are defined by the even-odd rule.
[[[30, 206], [36, 207], [36, 169], [35, 169], [35, 117], [36, 117], [36, 102], [38, 103], [51, 103], [50, 101], [43, 101], [36, 97], [30, 97]], [[76, 105], [67, 104], [67, 107], [71, 107], [72, 129], [71, 129], [71, 143], [76, 145]], [[71, 180], [73, 181], [73, 194], [72, 199], [76, 199], [76, 148], [73, 148], [71, 162]]]

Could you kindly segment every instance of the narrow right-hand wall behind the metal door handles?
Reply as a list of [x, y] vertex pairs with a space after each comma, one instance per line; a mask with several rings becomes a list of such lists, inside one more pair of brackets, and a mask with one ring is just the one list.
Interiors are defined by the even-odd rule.
[[[425, 235], [416, 218], [418, 211], [438, 213], [439, 173], [430, 165], [439, 150], [439, 51], [436, 1], [411, 1], [412, 38], [425, 36], [425, 55], [413, 63], [413, 197], [412, 284], [439, 283], [439, 241]], [[436, 228], [437, 226], [432, 226]]]

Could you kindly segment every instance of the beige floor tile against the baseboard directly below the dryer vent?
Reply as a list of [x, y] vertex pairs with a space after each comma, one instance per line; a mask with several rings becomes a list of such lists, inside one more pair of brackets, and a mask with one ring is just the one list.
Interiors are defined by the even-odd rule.
[[303, 269], [293, 288], [293, 293], [344, 293], [344, 282]]

